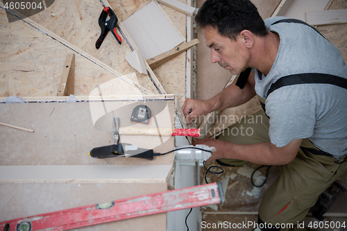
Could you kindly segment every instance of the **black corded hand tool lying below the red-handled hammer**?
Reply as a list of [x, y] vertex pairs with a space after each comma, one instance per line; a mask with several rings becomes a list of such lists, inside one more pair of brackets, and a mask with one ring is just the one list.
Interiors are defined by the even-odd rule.
[[112, 144], [93, 148], [88, 155], [98, 159], [110, 157], [136, 157], [153, 160], [154, 153], [152, 149], [138, 148], [131, 144]]

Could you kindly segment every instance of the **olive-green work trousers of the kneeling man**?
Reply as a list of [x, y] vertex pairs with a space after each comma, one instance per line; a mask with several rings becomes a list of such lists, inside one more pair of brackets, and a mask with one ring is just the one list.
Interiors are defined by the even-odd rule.
[[[218, 139], [235, 144], [270, 142], [269, 118], [262, 110], [248, 115], [228, 130], [224, 130]], [[347, 170], [347, 162], [344, 162], [347, 155], [335, 160], [326, 155], [314, 155], [305, 148], [315, 147], [308, 139], [303, 139], [298, 155], [283, 166], [280, 176], [266, 189], [262, 197], [259, 209], [262, 221], [273, 226], [289, 223], [294, 226], [281, 230], [306, 230], [299, 228], [300, 221], [305, 218], [321, 193]], [[232, 166], [247, 164], [240, 160], [219, 161]]]

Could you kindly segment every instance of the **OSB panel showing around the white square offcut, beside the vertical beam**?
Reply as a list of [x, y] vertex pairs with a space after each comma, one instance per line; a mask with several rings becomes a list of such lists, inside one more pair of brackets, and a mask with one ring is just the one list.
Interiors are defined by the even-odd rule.
[[[182, 3], [186, 3], [185, 0], [179, 0]], [[115, 10], [119, 20], [123, 20], [128, 15], [132, 14], [143, 6], [146, 0], [108, 0], [112, 9]], [[162, 3], [159, 3], [164, 12], [167, 14], [171, 22], [174, 23], [176, 28], [180, 31], [183, 37], [186, 37], [186, 19], [187, 16], [178, 10], [174, 10], [169, 6], [165, 6]], [[178, 97], [180, 105], [183, 105], [185, 101], [185, 76], [186, 76], [186, 57], [185, 53], [178, 55], [169, 62], [164, 63], [164, 65], [154, 69], [154, 73], [157, 78], [160, 80], [160, 83], [167, 89], [168, 94], [175, 94]]]

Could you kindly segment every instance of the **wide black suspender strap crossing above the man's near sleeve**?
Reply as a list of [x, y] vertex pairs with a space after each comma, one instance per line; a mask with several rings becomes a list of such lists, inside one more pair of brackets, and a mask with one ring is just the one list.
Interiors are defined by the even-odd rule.
[[303, 73], [303, 74], [294, 74], [290, 76], [284, 76], [279, 78], [275, 83], [273, 83], [266, 94], [269, 94], [276, 89], [281, 87], [289, 86], [289, 85], [298, 85], [298, 84], [306, 84], [306, 83], [323, 83], [336, 85], [338, 87], [343, 87], [347, 89], [347, 79], [341, 78], [339, 76], [333, 76], [330, 74], [321, 74], [321, 73]]

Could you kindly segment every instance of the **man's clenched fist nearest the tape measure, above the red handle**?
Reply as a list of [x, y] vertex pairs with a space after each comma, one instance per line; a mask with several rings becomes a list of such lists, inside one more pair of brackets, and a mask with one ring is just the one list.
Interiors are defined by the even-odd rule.
[[194, 123], [198, 117], [212, 111], [209, 101], [189, 98], [185, 99], [182, 110], [188, 124]]

